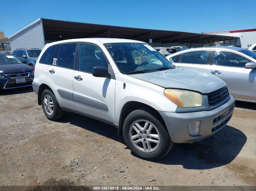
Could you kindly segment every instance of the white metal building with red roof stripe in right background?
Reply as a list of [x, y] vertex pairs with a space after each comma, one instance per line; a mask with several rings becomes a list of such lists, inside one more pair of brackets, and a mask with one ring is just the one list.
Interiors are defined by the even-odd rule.
[[[225, 46], [234, 45], [242, 48], [249, 48], [249, 46], [256, 43], [256, 28], [243, 30], [227, 30], [204, 34], [217, 34], [239, 37], [239, 39], [225, 40], [225, 43], [227, 43]], [[224, 43], [224, 41], [222, 42]]]

